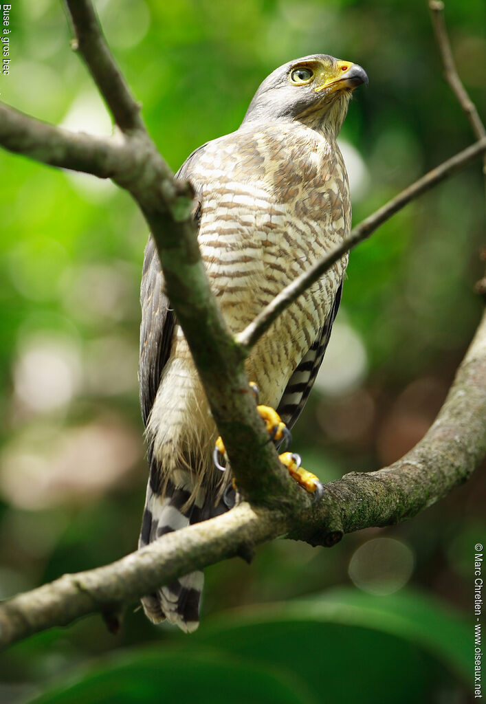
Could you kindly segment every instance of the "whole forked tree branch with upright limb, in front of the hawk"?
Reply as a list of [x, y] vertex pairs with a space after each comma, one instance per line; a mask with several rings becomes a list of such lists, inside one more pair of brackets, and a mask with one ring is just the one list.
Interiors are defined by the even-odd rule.
[[[309, 496], [282, 469], [255, 412], [243, 368], [250, 342], [247, 339], [243, 346], [233, 339], [211, 294], [192, 222], [192, 189], [189, 184], [175, 182], [137, 118], [135, 103], [104, 43], [91, 4], [68, 0], [68, 6], [76, 31], [84, 37], [82, 54], [117, 123], [125, 130], [123, 137], [74, 135], [4, 106], [0, 143], [44, 163], [110, 176], [130, 191], [151, 227], [168, 296], [225, 439], [237, 483], [254, 505], [242, 503], [223, 516], [163, 536], [113, 565], [65, 575], [12, 598], [0, 605], [0, 643], [4, 645], [89, 612], [116, 610], [182, 574], [235, 555], [248, 543], [288, 534], [312, 544], [332, 545], [344, 532], [404, 520], [463, 482], [486, 451], [483, 321], [447, 401], [423, 441], [391, 467], [370, 474], [347, 474], [326, 485], [323, 500], [311, 505]], [[449, 176], [485, 146], [481, 140], [446, 162], [444, 168], [423, 177], [418, 182], [422, 186], [413, 184], [391, 209], [384, 206], [367, 218], [354, 230], [355, 236], [361, 232], [360, 239], [364, 239], [377, 223], [422, 192], [424, 182], [431, 180], [431, 185]], [[303, 290], [294, 290], [295, 297]]]

